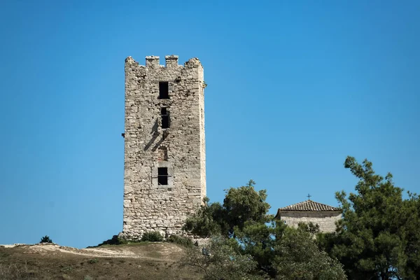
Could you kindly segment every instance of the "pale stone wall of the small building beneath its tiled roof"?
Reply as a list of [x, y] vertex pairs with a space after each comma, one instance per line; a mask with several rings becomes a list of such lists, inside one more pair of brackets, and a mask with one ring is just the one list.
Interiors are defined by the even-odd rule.
[[283, 211], [281, 220], [286, 225], [297, 227], [298, 223], [316, 223], [321, 232], [335, 231], [335, 222], [339, 221], [342, 214], [339, 211]]

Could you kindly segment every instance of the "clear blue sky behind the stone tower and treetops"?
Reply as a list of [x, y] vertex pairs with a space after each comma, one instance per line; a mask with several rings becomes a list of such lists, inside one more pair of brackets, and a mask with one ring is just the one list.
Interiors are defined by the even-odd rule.
[[420, 192], [419, 1], [2, 1], [0, 244], [123, 227], [124, 59], [204, 65], [207, 195], [337, 205], [346, 155]]

